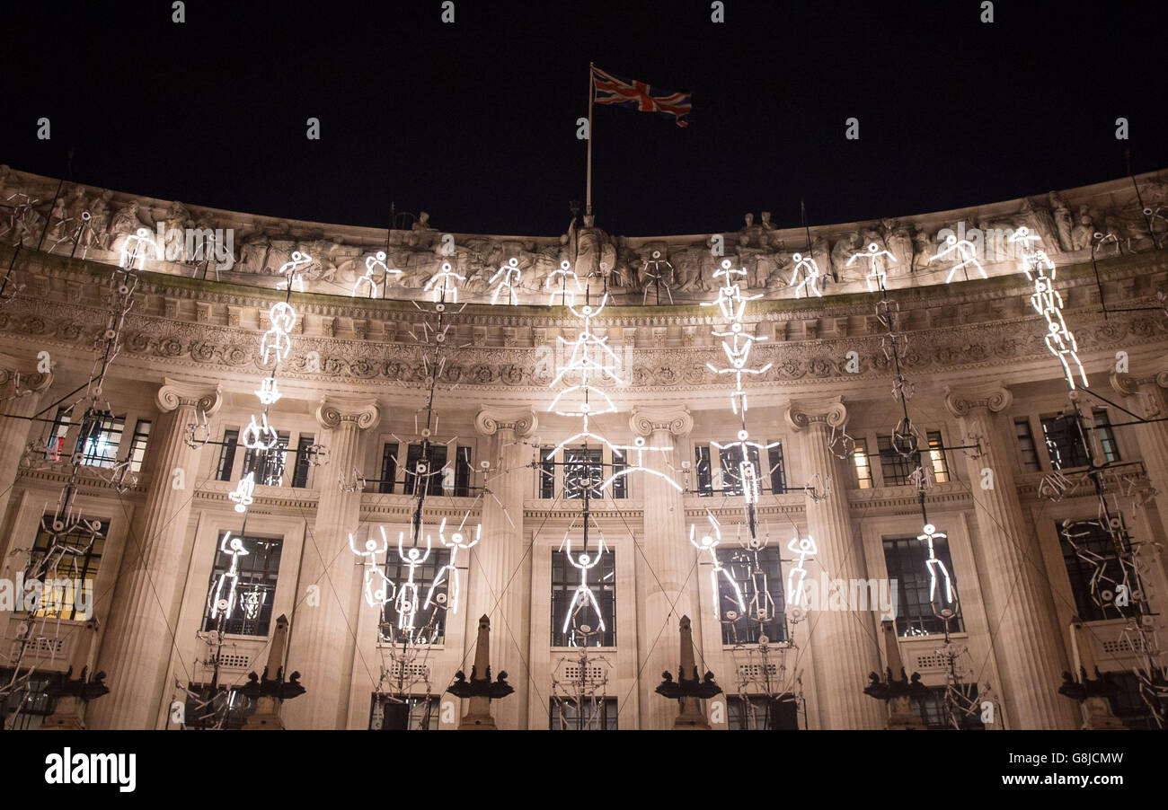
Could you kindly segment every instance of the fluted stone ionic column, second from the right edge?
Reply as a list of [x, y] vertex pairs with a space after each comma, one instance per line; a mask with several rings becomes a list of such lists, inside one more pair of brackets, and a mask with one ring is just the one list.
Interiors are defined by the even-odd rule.
[[[1002, 384], [945, 387], [945, 406], [964, 435], [981, 438], [982, 456], [966, 455], [978, 531], [973, 558], [1014, 728], [1073, 728], [1075, 707], [1058, 693], [1068, 669], [1063, 634], [1038, 537], [1027, 525], [1010, 463], [1011, 431], [1002, 412], [1013, 394]], [[983, 475], [989, 469], [993, 479]], [[982, 489], [980, 482], [990, 481]], [[958, 581], [958, 596], [961, 584]]]

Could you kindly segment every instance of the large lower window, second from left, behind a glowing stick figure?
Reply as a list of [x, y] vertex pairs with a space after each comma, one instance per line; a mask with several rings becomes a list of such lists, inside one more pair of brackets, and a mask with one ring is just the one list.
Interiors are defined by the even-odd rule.
[[[280, 573], [280, 551], [284, 542], [243, 537], [238, 539], [242, 540], [246, 553], [232, 554], [222, 550], [223, 537], [220, 536], [215, 546], [215, 565], [211, 567], [211, 579], [207, 586], [202, 629], [214, 630], [216, 623], [222, 621], [223, 633], [266, 636], [272, 620], [272, 602], [276, 598], [276, 580]], [[228, 602], [228, 610], [216, 610], [215, 617], [211, 619], [211, 610], [223, 600]]]

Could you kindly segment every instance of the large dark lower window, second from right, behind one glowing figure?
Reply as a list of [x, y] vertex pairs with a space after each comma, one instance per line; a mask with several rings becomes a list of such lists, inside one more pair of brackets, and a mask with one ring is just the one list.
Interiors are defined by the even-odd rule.
[[[933, 552], [948, 571], [954, 595], [958, 593], [957, 574], [950, 557], [948, 540], [944, 537], [933, 539]], [[897, 537], [884, 539], [884, 565], [888, 578], [896, 582], [897, 616], [896, 631], [902, 636], [923, 636], [933, 633], [945, 633], [945, 622], [933, 613], [929, 601], [929, 546], [916, 537]], [[944, 587], [944, 577], [937, 573], [938, 589]], [[940, 594], [938, 593], [938, 609]], [[964, 630], [960, 616], [950, 622], [950, 630]]]

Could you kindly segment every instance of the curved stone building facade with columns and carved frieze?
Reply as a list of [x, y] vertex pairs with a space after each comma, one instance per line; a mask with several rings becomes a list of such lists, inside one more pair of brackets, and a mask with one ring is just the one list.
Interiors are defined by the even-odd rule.
[[[915, 711], [924, 725], [1090, 725], [1094, 710], [1058, 690], [1064, 671], [1092, 664], [1117, 673], [1113, 714], [1154, 725], [1132, 670], [1155, 675], [1164, 665], [1148, 643], [1166, 631], [1168, 423], [1142, 419], [1168, 414], [1168, 252], [1159, 214], [1166, 176], [1138, 177], [1139, 200], [1124, 179], [1037, 203], [809, 236], [764, 217], [763, 225], [750, 219], [694, 237], [610, 237], [573, 226], [562, 238], [521, 238], [447, 235], [426, 217], [388, 236], [278, 222], [62, 188], [5, 169], [0, 578], [16, 581], [53, 547], [44, 519], [67, 488], [70, 514], [100, 522], [99, 539], [71, 547], [56, 567], [68, 564], [91, 582], [88, 609], [75, 600], [57, 610], [0, 613], [8, 721], [33, 727], [60, 713], [62, 701], [42, 692], [55, 673], [83, 662], [105, 673], [110, 690], [78, 710], [76, 721], [88, 727], [244, 724], [255, 706], [237, 690], [267, 662], [284, 615], [284, 663], [307, 690], [284, 703], [287, 727], [368, 728], [392, 717], [454, 728], [466, 707], [446, 689], [456, 672], [470, 672], [486, 615], [492, 669], [505, 670], [514, 687], [492, 705], [499, 727], [667, 728], [677, 704], [655, 690], [662, 671], [676, 670], [686, 615], [701, 673], [712, 672], [724, 690], [703, 703], [714, 728], [885, 727], [887, 705], [864, 687], [890, 652], [920, 676], [927, 693], [915, 698]], [[1145, 617], [1098, 602], [1092, 572], [1115, 568], [1092, 568], [1064, 532], [1064, 521], [1099, 512], [1093, 481], [1082, 476], [1094, 441], [1084, 444], [1061, 418], [1066, 375], [1045, 340], [1048, 321], [1031, 306], [1034, 282], [1001, 236], [1023, 226], [1057, 266], [1062, 316], [1090, 380], [1077, 391], [1101, 453], [1096, 480], [1136, 545], [1132, 582], [1135, 602], [1152, 608]], [[127, 247], [138, 228], [148, 231], [150, 252]], [[167, 256], [172, 239], [215, 229], [232, 235], [229, 260]], [[957, 275], [954, 261], [929, 260], [950, 232], [980, 257]], [[868, 245], [887, 257], [884, 294], [865, 271]], [[312, 264], [288, 293], [279, 268], [297, 251]], [[818, 261], [814, 292], [799, 289], [804, 254]], [[712, 333], [725, 319], [709, 306], [723, 257], [745, 271], [745, 293], [758, 295], [743, 320], [765, 337], [752, 363], [766, 369], [743, 383], [750, 433], [764, 448], [752, 462], [753, 498], [718, 447], [739, 430], [734, 375], [717, 372], [726, 355]], [[558, 285], [563, 302], [577, 281], [557, 279], [561, 263], [573, 270], [597, 258], [603, 275], [588, 301], [597, 303], [602, 289], [610, 298], [588, 328], [611, 348], [620, 383], [605, 389], [613, 407], [597, 413], [591, 430], [638, 448], [624, 460], [597, 441], [597, 458], [579, 455], [578, 441], [549, 454], [579, 432], [579, 414], [549, 405], [582, 331], [584, 299], [577, 287], [575, 309], [548, 300]], [[436, 366], [426, 281], [443, 263], [459, 277], [459, 300], [447, 299], [442, 313]], [[133, 278], [128, 293], [118, 288], [119, 264]], [[507, 266], [519, 268], [519, 280], [492, 305]], [[360, 282], [366, 268], [380, 285]], [[133, 303], [111, 320], [119, 294]], [[285, 463], [265, 479], [264, 454], [243, 447], [241, 435], [257, 413], [267, 375], [260, 344], [283, 300], [298, 321], [276, 377], [283, 396], [267, 418]], [[894, 302], [883, 305], [885, 316], [897, 312], [895, 362], [878, 300]], [[117, 351], [92, 399], [107, 409], [85, 421], [83, 407], [69, 406], [92, 393], [111, 340]], [[894, 446], [903, 417], [892, 396], [897, 373], [913, 387], [908, 409], [924, 442], [918, 459], [927, 486], [910, 479], [911, 465]], [[440, 454], [430, 455], [434, 469], [449, 472], [423, 482], [411, 448], [424, 441]], [[580, 480], [607, 477], [621, 465], [644, 469], [589, 505], [607, 550], [590, 582], [604, 629], [590, 619], [586, 630], [568, 633], [564, 610], [580, 580], [563, 550], [565, 533], [579, 531]], [[257, 470], [244, 528], [230, 496]], [[396, 538], [412, 537], [423, 488], [423, 532], [434, 556], [429, 567], [408, 571]], [[764, 622], [725, 613], [749, 501], [767, 550], [764, 587], [778, 606]], [[948, 622], [930, 607], [922, 505], [945, 535], [937, 558], [959, 595], [959, 616]], [[711, 518], [722, 540], [715, 556], [690, 533], [708, 531]], [[479, 540], [456, 554], [432, 592], [450, 559], [439, 529], [454, 526], [467, 537], [480, 528]], [[366, 565], [362, 544], [382, 531], [388, 549]], [[250, 559], [224, 551], [225, 535], [242, 535]], [[804, 563], [788, 544], [808, 536], [815, 553]], [[1097, 551], [1110, 547], [1105, 535], [1089, 540]], [[244, 563], [232, 572], [231, 560]], [[896, 580], [903, 592], [895, 635], [882, 631], [876, 606], [791, 605], [784, 591], [794, 566], [806, 581], [870, 584], [872, 594]], [[387, 635], [383, 626], [401, 616], [367, 598], [370, 567], [395, 588], [416, 579], [425, 599], [453, 601], [457, 591], [457, 612], [443, 610], [433, 620], [440, 631], [423, 640], [432, 643]], [[238, 605], [245, 592], [258, 601], [232, 605], [216, 623], [213, 593], [224, 574], [238, 577]], [[1133, 623], [1143, 628], [1136, 635]], [[1152, 677], [1143, 692], [1154, 701], [1162, 687]], [[961, 698], [967, 711], [958, 717]]]

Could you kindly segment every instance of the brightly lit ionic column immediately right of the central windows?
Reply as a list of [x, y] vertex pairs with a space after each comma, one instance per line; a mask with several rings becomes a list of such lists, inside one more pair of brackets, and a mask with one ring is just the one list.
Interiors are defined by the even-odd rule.
[[[675, 441], [694, 428], [689, 411], [638, 409], [628, 420], [633, 432], [646, 438], [644, 465], [649, 470], [675, 479], [677, 463]], [[637, 451], [628, 451], [628, 462], [637, 463]], [[679, 662], [672, 643], [682, 616], [696, 616], [701, 596], [697, 589], [697, 550], [689, 543], [686, 510], [680, 493], [652, 473], [632, 474], [642, 493], [644, 529], [637, 554], [637, 669], [640, 703], [640, 728], [672, 728], [677, 715], [673, 701], [658, 694], [661, 672], [674, 671]], [[680, 483], [680, 482], [679, 482]], [[620, 605], [620, 594], [617, 603]], [[620, 643], [620, 640], [617, 640]], [[702, 642], [696, 636], [697, 665], [704, 663]], [[704, 670], [703, 670], [704, 672]]]

